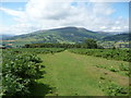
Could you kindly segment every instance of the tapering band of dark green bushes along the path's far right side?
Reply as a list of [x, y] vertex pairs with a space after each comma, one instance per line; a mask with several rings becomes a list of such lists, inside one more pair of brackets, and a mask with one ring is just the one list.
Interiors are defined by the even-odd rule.
[[130, 50], [128, 49], [70, 49], [70, 51], [112, 60], [131, 61]]

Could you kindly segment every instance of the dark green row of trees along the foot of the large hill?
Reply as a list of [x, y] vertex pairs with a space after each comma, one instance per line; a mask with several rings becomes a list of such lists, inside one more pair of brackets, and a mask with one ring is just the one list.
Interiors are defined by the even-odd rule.
[[87, 49], [102, 49], [96, 40], [87, 39], [83, 44], [27, 44], [23, 48], [87, 48]]

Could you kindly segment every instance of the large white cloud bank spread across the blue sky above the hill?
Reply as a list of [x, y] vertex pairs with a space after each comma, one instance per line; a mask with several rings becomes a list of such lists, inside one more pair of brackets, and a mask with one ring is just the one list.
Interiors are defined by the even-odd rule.
[[[111, 19], [116, 13], [106, 2], [55, 2], [53, 0], [29, 0], [24, 11], [1, 8], [13, 15], [16, 24], [8, 27], [10, 33], [24, 34], [38, 29], [64, 26], [85, 27], [91, 30], [117, 32], [128, 30], [128, 20]], [[14, 27], [12, 29], [12, 27]], [[3, 29], [7, 29], [3, 27]], [[5, 33], [2, 30], [2, 33]]]

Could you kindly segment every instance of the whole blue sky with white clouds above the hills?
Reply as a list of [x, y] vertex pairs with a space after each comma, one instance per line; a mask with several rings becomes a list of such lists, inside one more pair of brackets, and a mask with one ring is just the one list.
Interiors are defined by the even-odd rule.
[[103, 0], [0, 2], [0, 34], [21, 35], [66, 26], [84, 27], [94, 32], [128, 32], [129, 2]]

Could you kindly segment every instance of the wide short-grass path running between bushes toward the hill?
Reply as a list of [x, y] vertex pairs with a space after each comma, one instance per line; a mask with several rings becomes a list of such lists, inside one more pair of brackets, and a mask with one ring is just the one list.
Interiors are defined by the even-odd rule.
[[[34, 95], [40, 96], [104, 96], [99, 88], [100, 76], [119, 85], [128, 85], [128, 77], [96, 68], [95, 65], [118, 65], [128, 62], [106, 60], [63, 51], [55, 54], [39, 54], [46, 66], [44, 78], [37, 79]], [[44, 85], [45, 84], [45, 85]], [[52, 89], [51, 89], [52, 88]]]

